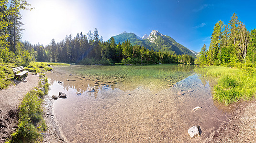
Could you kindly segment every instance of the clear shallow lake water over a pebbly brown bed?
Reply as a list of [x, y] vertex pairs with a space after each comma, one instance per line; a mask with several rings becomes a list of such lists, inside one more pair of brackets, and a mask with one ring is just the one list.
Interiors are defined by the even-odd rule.
[[[187, 65], [55, 67], [54, 72], [47, 73], [51, 82], [49, 94], [64, 92], [67, 99], [54, 102], [54, 114], [62, 133], [74, 143], [207, 141], [229, 121], [233, 107], [214, 103], [212, 85], [193, 68]], [[95, 82], [108, 86], [96, 86]], [[87, 92], [91, 88], [96, 92]], [[82, 94], [77, 95], [77, 91]], [[202, 109], [191, 112], [196, 106]], [[187, 130], [193, 125], [200, 126], [200, 138], [189, 139]]]

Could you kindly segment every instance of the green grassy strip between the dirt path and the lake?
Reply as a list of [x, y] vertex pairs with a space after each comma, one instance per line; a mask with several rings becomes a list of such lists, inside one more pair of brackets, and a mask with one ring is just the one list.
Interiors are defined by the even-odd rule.
[[43, 96], [48, 94], [48, 87], [47, 78], [40, 74], [38, 87], [28, 92], [19, 106], [18, 128], [6, 143], [34, 143], [42, 140], [41, 133], [46, 131], [42, 102]]

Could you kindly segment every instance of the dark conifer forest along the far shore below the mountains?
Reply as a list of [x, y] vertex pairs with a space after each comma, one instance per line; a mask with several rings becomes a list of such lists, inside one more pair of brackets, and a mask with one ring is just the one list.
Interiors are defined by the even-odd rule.
[[26, 49], [33, 47], [37, 52], [36, 61], [75, 62], [80, 64], [154, 64], [154, 63], [185, 63], [193, 64], [194, 58], [190, 55], [176, 55], [168, 52], [146, 49], [140, 45], [131, 45], [130, 41], [122, 44], [115, 43], [113, 37], [109, 41], [99, 38], [98, 30], [87, 35], [77, 34], [72, 38], [57, 42], [53, 39], [45, 48], [42, 45], [24, 43]]

